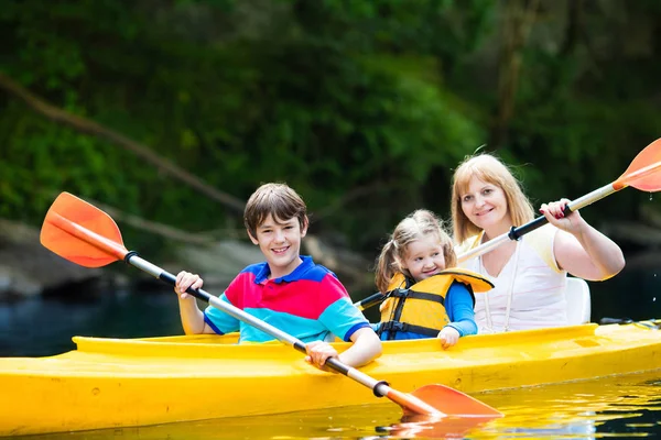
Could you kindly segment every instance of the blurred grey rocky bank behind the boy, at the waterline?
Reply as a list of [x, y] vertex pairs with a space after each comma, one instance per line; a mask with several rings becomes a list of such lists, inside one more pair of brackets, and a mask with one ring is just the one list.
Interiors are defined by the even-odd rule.
[[[162, 288], [163, 283], [144, 272], [131, 273], [88, 268], [71, 263], [41, 245], [39, 230], [0, 219], [0, 298], [7, 296], [90, 296], [100, 290]], [[347, 250], [307, 235], [302, 252], [335, 272], [349, 289], [371, 285], [369, 262]], [[144, 258], [149, 260], [145, 255]], [[205, 289], [220, 294], [247, 265], [264, 261], [249, 241], [226, 239], [207, 245], [183, 244], [176, 260], [153, 263], [176, 274], [182, 270], [199, 274]], [[130, 271], [130, 270], [129, 270]], [[132, 278], [129, 286], [128, 277]]]

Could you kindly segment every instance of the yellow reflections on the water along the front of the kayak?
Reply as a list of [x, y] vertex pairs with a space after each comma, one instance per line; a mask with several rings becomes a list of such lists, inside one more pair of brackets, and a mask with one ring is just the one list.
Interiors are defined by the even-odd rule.
[[503, 418], [402, 419], [397, 405], [216, 419], [152, 427], [25, 437], [131, 439], [596, 439], [661, 435], [661, 370], [599, 381], [480, 394]]

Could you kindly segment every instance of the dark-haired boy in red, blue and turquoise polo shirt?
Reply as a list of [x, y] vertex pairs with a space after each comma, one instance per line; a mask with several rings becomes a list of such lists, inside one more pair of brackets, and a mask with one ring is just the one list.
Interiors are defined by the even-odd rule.
[[[262, 185], [250, 196], [243, 222], [267, 261], [241, 271], [220, 299], [305, 342], [305, 360], [319, 369], [328, 358], [355, 367], [365, 365], [381, 354], [381, 341], [335, 274], [300, 255], [308, 226], [306, 209], [296, 191], [284, 184]], [[174, 290], [186, 334], [239, 330], [239, 342], [273, 339], [214, 307], [201, 311], [195, 298], [185, 294], [191, 286], [201, 288], [203, 279], [181, 272]], [[334, 336], [354, 344], [338, 355], [325, 342]]]

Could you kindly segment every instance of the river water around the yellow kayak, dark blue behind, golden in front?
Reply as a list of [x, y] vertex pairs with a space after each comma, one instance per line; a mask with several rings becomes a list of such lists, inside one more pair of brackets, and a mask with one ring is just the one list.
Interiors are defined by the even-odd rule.
[[[660, 272], [661, 273], [661, 272]], [[661, 317], [654, 271], [625, 270], [590, 283], [593, 321]], [[366, 293], [366, 295], [369, 293]], [[30, 298], [0, 304], [0, 356], [43, 356], [73, 350], [73, 336], [137, 338], [181, 334], [172, 290], [110, 292], [90, 297]], [[659, 333], [661, 338], [661, 332]], [[465, 421], [412, 424], [393, 404], [268, 417], [218, 419], [158, 427], [39, 436], [40, 439], [377, 439], [576, 438], [661, 436], [661, 365], [651, 373], [477, 397], [506, 417], [476, 426]], [[0, 409], [1, 410], [1, 409]], [[36, 438], [36, 437], [35, 437]]]

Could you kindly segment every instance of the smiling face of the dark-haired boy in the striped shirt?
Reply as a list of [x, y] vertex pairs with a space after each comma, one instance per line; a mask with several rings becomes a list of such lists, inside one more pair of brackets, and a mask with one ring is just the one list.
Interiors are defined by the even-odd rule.
[[269, 215], [256, 232], [257, 237], [248, 235], [267, 257], [272, 278], [288, 275], [301, 264], [301, 239], [307, 233], [307, 222], [301, 229], [296, 218], [280, 220]]

